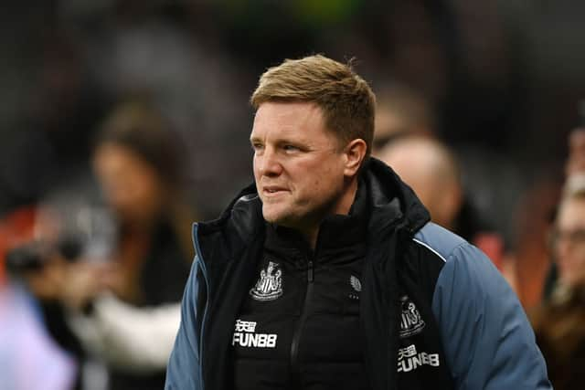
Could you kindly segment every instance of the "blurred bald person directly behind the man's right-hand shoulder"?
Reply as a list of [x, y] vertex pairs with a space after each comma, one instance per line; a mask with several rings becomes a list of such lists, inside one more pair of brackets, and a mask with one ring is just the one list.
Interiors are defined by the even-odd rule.
[[409, 184], [429, 209], [431, 219], [481, 248], [503, 270], [504, 242], [473, 208], [449, 148], [431, 137], [402, 134], [378, 153]]

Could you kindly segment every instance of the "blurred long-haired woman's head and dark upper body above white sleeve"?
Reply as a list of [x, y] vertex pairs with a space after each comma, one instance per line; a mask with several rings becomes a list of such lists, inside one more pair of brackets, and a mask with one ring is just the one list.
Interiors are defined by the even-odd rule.
[[[129, 302], [180, 299], [189, 269], [194, 214], [182, 197], [183, 152], [165, 121], [140, 103], [122, 105], [103, 125], [93, 164], [106, 202], [118, 219], [120, 285]], [[178, 275], [176, 275], [178, 274]], [[162, 285], [149, 288], [148, 284]]]

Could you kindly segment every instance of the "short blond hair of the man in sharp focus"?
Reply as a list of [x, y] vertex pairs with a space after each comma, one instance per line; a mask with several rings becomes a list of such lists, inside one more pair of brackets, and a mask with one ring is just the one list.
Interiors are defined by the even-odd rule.
[[322, 55], [285, 59], [266, 70], [250, 97], [255, 110], [267, 101], [306, 101], [323, 112], [327, 129], [340, 142], [361, 138], [371, 153], [376, 95], [352, 69]]

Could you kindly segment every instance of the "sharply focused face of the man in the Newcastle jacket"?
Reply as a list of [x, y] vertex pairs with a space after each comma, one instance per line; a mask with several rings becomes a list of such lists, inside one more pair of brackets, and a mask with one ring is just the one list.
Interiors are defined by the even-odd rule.
[[250, 142], [264, 219], [306, 231], [324, 216], [346, 214], [346, 153], [325, 128], [319, 107], [262, 103]]

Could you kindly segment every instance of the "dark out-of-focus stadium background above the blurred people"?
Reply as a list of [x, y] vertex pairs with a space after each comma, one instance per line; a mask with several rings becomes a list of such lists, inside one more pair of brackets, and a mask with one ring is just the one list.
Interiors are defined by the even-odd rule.
[[580, 124], [583, 15], [576, 0], [7, 3], [0, 214], [83, 182], [101, 121], [140, 99], [185, 147], [197, 216], [217, 216], [251, 180], [248, 98], [261, 72], [323, 53], [356, 58], [377, 92], [399, 85], [424, 100], [478, 210], [518, 249], [545, 224]]

